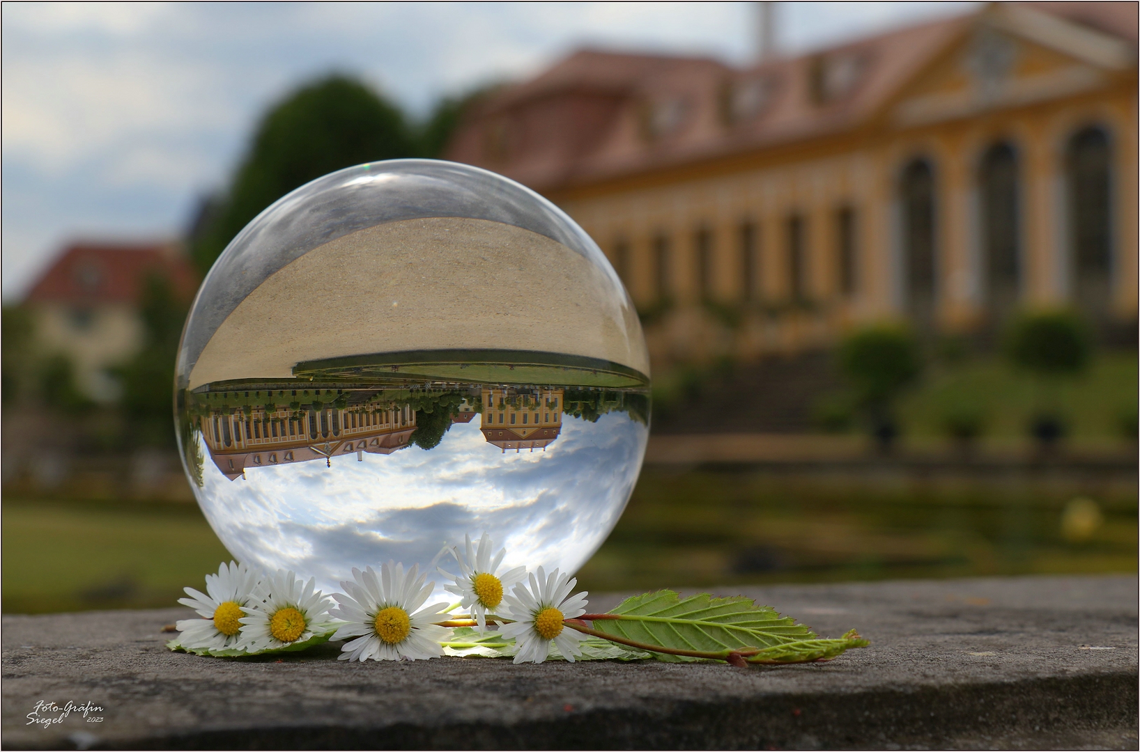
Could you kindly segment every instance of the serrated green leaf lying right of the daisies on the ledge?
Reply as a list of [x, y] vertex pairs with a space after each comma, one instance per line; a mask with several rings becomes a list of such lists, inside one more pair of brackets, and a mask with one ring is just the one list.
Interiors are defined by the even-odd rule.
[[[681, 598], [673, 590], [660, 590], [626, 598], [609, 613], [621, 619], [595, 620], [596, 631], [674, 649], [718, 653], [816, 639], [808, 627], [743, 596], [714, 598], [706, 592]], [[662, 661], [705, 660], [665, 654], [657, 654], [657, 657]]]

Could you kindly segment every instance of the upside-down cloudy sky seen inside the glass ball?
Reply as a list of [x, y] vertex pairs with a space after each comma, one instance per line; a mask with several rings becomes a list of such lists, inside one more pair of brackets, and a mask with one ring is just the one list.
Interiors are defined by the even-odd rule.
[[477, 420], [453, 425], [430, 451], [249, 468], [244, 481], [207, 461], [199, 504], [239, 559], [315, 575], [326, 589], [389, 558], [426, 567], [446, 543], [483, 531], [507, 547], [507, 565], [573, 571], [625, 508], [648, 431], [621, 412], [564, 419], [545, 452], [503, 452]]

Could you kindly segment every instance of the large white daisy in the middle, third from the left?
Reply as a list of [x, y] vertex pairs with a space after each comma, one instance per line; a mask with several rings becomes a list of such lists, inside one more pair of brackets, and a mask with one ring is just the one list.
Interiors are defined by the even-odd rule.
[[341, 661], [415, 661], [443, 654], [440, 641], [448, 630], [432, 622], [447, 619], [447, 604], [421, 608], [435, 589], [434, 582], [424, 585], [426, 572], [420, 574], [417, 565], [405, 572], [402, 564], [389, 562], [378, 575], [370, 566], [364, 572], [353, 569], [352, 579], [341, 582], [347, 595], [333, 595], [340, 604], [333, 614], [347, 622], [333, 639], [356, 637], [341, 648]]

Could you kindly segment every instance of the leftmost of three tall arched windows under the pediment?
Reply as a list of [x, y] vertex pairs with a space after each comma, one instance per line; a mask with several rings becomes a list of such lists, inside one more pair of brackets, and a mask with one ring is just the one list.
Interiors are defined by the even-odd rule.
[[934, 170], [926, 160], [914, 160], [903, 170], [902, 206], [903, 280], [905, 308], [920, 330], [931, 330], [935, 319], [935, 186]]

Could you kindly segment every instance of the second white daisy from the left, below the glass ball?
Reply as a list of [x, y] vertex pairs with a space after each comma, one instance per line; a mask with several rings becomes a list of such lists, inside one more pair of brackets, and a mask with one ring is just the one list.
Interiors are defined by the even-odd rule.
[[320, 590], [314, 592], [316, 578], [302, 582], [293, 572], [278, 570], [266, 577], [256, 596], [242, 611], [241, 646], [247, 653], [280, 649], [331, 632], [339, 622], [332, 620], [332, 600]]

